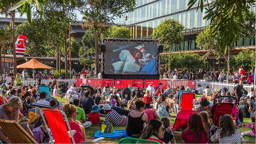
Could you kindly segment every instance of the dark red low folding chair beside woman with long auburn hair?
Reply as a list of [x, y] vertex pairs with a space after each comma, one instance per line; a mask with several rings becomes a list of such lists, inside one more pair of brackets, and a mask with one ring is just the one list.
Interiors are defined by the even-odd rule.
[[188, 127], [189, 117], [195, 111], [180, 111], [173, 124], [173, 131], [183, 131]]

